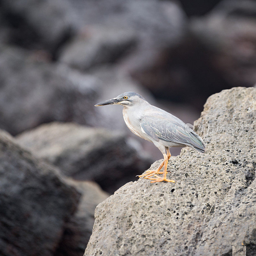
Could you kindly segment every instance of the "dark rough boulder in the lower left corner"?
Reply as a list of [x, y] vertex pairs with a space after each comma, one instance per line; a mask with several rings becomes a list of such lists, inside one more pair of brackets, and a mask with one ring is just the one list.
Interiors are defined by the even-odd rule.
[[53, 167], [0, 132], [0, 255], [53, 255], [79, 196]]

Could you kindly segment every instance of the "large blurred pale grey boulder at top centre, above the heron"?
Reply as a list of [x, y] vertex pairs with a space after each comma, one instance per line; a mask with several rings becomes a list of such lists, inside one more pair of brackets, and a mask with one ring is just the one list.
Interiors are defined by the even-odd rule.
[[[74, 39], [62, 51], [60, 59], [78, 68], [90, 68], [95, 62], [113, 63], [113, 57], [115, 61], [118, 57], [126, 72], [152, 66], [165, 47], [180, 43], [186, 31], [185, 15], [174, 2], [76, 0], [72, 1], [72, 6], [79, 17], [80, 30], [85, 31], [86, 36], [83, 40], [81, 36]], [[102, 30], [106, 36], [98, 35]], [[131, 48], [133, 42], [136, 45]], [[124, 54], [128, 46], [131, 48], [129, 54]], [[115, 54], [109, 57], [113, 50]], [[76, 58], [79, 52], [80, 56]]]

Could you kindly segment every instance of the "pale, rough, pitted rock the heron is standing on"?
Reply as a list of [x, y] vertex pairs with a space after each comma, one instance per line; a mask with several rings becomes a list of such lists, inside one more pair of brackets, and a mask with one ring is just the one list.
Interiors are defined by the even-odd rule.
[[209, 97], [195, 122], [207, 153], [183, 148], [168, 164], [175, 184], [140, 179], [99, 204], [84, 255], [255, 255], [255, 98], [244, 87]]

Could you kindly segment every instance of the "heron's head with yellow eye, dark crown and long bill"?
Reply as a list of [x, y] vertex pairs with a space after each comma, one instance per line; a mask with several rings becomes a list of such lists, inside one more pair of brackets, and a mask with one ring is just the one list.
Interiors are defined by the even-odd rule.
[[120, 95], [118, 95], [116, 98], [101, 101], [100, 103], [94, 105], [95, 107], [98, 106], [105, 106], [110, 104], [119, 104], [124, 107], [131, 107], [135, 104], [146, 102], [146, 100], [138, 93], [136, 92], [124, 92]]

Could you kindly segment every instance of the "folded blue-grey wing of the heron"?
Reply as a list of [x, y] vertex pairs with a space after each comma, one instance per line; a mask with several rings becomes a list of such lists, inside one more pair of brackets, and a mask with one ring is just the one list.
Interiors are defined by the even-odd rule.
[[155, 134], [160, 140], [194, 146], [203, 150], [205, 148], [201, 138], [177, 117], [167, 119], [160, 116], [143, 116], [140, 126], [153, 139], [155, 137], [153, 134]]

